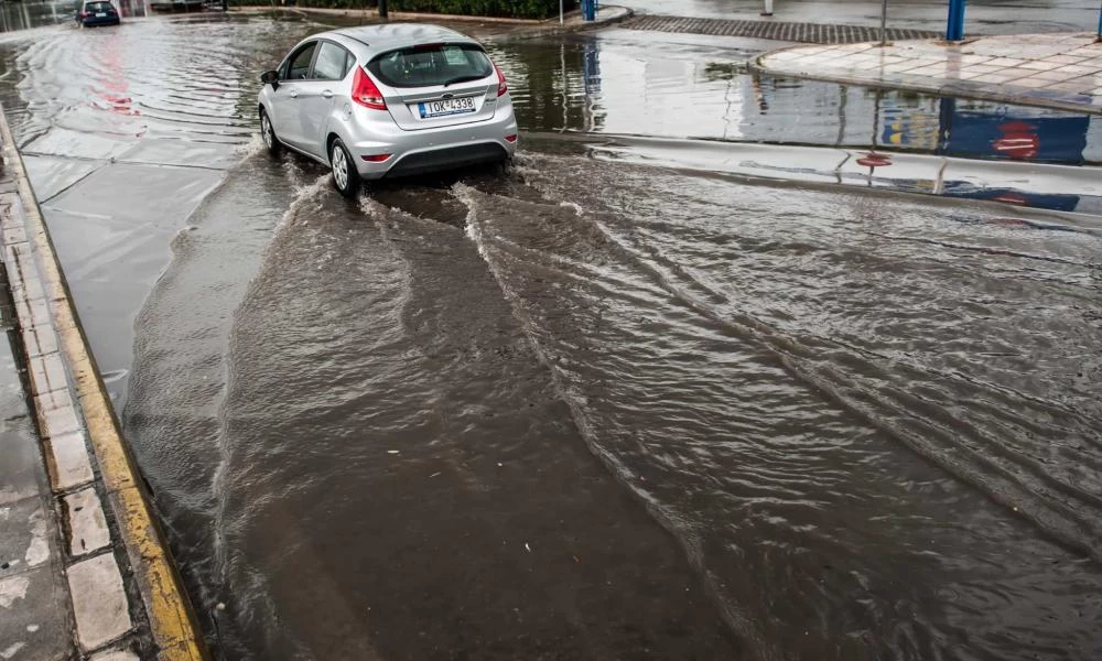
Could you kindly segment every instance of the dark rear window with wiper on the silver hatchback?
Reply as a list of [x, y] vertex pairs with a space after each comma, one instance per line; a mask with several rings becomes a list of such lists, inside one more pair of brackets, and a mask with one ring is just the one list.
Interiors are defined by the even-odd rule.
[[428, 87], [485, 78], [494, 65], [474, 44], [432, 44], [383, 53], [367, 69], [390, 87]]

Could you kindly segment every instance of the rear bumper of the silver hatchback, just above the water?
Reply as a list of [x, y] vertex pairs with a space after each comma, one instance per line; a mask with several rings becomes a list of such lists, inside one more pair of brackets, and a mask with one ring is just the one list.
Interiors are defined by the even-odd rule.
[[[491, 119], [469, 124], [421, 131], [403, 131], [392, 122], [391, 126], [392, 129], [388, 127], [383, 132], [379, 124], [372, 124], [369, 139], [346, 141], [361, 177], [407, 176], [494, 163], [517, 151], [517, 143], [505, 139], [517, 134], [511, 105], [501, 108]], [[381, 163], [363, 159], [376, 154], [390, 154], [390, 158]]]

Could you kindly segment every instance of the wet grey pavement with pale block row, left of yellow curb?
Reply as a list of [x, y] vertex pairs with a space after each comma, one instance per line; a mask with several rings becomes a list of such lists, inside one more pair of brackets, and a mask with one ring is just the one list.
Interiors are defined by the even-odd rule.
[[20, 196], [0, 173], [0, 659], [137, 661], [140, 635], [26, 239]]

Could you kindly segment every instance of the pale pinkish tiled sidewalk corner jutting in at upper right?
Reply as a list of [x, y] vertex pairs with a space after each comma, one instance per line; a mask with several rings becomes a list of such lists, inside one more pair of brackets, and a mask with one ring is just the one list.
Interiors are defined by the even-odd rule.
[[753, 66], [778, 76], [1102, 113], [1102, 43], [1092, 33], [798, 46], [766, 53]]

